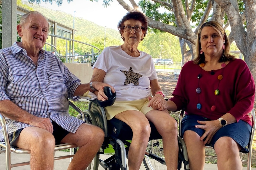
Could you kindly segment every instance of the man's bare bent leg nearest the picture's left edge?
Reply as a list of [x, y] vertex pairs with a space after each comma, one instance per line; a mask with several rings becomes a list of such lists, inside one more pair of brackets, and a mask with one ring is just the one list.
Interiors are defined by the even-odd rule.
[[20, 132], [14, 145], [31, 151], [31, 170], [53, 170], [55, 139], [47, 130], [26, 127]]

